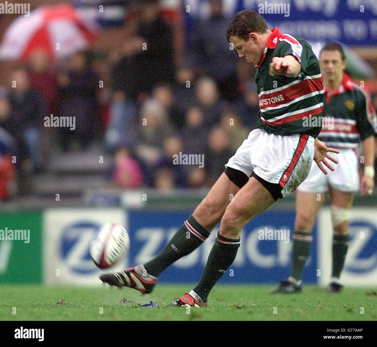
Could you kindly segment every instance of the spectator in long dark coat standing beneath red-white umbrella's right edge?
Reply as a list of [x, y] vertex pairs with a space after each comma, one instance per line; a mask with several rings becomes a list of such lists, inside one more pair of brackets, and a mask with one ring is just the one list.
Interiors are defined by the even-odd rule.
[[[76, 141], [79, 148], [87, 149], [99, 135], [97, 91], [99, 80], [87, 63], [83, 52], [73, 54], [69, 59], [69, 71], [61, 73], [60, 117], [75, 117], [75, 129], [59, 128], [61, 148], [69, 150]], [[67, 119], [69, 119], [67, 118]]]

